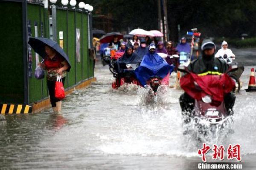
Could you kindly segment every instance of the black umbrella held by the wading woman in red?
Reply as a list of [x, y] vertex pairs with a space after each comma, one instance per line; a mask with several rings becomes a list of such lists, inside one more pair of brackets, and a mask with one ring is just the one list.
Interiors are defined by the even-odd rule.
[[66, 53], [63, 51], [63, 49], [58, 45], [58, 43], [56, 43], [55, 41], [48, 39], [48, 38], [29, 38], [29, 44], [30, 46], [34, 49], [34, 51], [36, 53], [38, 53], [39, 55], [41, 55], [42, 58], [45, 58], [45, 56], [47, 56], [47, 54], [45, 53], [45, 46], [50, 46], [52, 47], [52, 49], [55, 49], [55, 51], [63, 58], [65, 58], [67, 60], [67, 63], [69, 64], [69, 68], [67, 69], [67, 71], [70, 71], [71, 68], [71, 64], [69, 61], [68, 56], [66, 55]]

